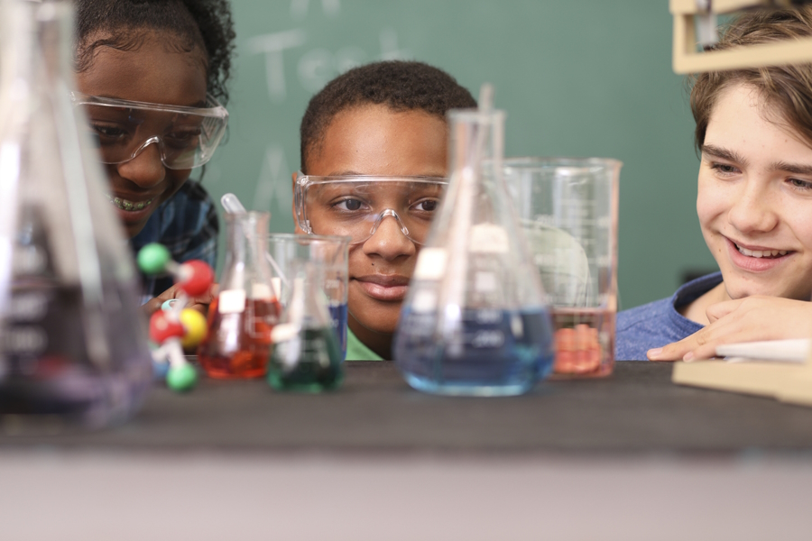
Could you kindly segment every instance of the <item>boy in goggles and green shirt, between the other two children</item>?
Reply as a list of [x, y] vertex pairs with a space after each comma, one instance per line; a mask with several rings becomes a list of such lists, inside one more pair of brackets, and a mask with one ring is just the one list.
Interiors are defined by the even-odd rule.
[[392, 337], [446, 188], [452, 108], [473, 96], [440, 69], [385, 61], [351, 69], [310, 100], [293, 174], [298, 233], [352, 238], [347, 360], [392, 358]]

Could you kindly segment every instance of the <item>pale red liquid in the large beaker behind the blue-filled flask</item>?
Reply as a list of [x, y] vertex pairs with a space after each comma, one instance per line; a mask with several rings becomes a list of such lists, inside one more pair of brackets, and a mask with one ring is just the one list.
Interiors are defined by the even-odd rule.
[[601, 377], [614, 368], [614, 313], [600, 308], [552, 308], [556, 326], [554, 378]]

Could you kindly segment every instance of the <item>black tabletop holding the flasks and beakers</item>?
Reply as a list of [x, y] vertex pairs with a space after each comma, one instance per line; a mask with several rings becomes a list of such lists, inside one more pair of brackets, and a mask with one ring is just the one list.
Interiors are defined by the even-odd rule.
[[0, 446], [129, 451], [678, 453], [812, 450], [812, 409], [674, 385], [671, 365], [618, 362], [593, 381], [547, 381], [512, 398], [412, 390], [392, 362], [346, 362], [318, 395], [263, 380], [162, 387], [124, 426], [62, 436], [0, 436]]

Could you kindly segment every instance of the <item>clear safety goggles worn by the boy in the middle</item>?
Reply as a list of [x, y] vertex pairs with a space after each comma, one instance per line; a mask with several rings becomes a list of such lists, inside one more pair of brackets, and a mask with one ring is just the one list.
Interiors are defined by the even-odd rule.
[[364, 243], [386, 218], [401, 233], [422, 244], [439, 200], [448, 187], [437, 177], [336, 176], [298, 173], [294, 188], [296, 218], [307, 234], [337, 234]]

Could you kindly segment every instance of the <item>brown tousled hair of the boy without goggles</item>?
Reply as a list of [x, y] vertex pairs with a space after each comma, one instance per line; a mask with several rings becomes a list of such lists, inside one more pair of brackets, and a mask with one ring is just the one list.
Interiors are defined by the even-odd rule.
[[[812, 6], [741, 15], [727, 28], [714, 50], [737, 45], [789, 41], [812, 36]], [[697, 127], [697, 150], [702, 151], [707, 124], [716, 100], [737, 84], [752, 87], [769, 109], [763, 114], [773, 122], [789, 124], [812, 145], [812, 64], [711, 71], [697, 75], [691, 88], [691, 112]], [[776, 117], [778, 115], [778, 117]]]

